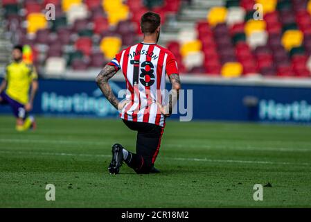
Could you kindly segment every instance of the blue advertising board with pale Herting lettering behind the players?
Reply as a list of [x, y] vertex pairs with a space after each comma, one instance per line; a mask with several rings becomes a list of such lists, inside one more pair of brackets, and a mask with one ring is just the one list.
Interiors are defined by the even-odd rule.
[[[190, 84], [193, 90], [192, 119], [231, 121], [280, 121], [311, 123], [311, 88], [249, 85]], [[115, 94], [125, 88], [112, 82]], [[188, 96], [189, 97], [189, 96]], [[247, 102], [247, 98], [253, 102]], [[190, 98], [187, 98], [190, 99]], [[187, 106], [187, 105], [185, 105]], [[10, 108], [0, 106], [1, 113]], [[188, 112], [191, 112], [188, 107]], [[90, 80], [39, 80], [34, 114], [118, 117], [96, 83]], [[186, 115], [174, 114], [172, 118]]]

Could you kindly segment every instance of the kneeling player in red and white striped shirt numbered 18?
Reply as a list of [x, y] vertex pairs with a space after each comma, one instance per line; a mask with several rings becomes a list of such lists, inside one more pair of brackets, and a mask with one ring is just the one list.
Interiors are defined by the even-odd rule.
[[[131, 130], [137, 131], [136, 153], [127, 151], [120, 144], [112, 146], [109, 172], [117, 174], [123, 161], [136, 173], [157, 173], [154, 162], [159, 153], [166, 117], [178, 99], [181, 88], [175, 56], [157, 44], [160, 36], [161, 17], [146, 12], [141, 17], [143, 42], [124, 49], [109, 62], [96, 78], [98, 87], [114, 108], [121, 112], [121, 119]], [[108, 80], [121, 69], [130, 94], [123, 102], [114, 96]], [[163, 89], [166, 74], [172, 83], [169, 105], [164, 105]], [[170, 110], [170, 112], [168, 112]]]

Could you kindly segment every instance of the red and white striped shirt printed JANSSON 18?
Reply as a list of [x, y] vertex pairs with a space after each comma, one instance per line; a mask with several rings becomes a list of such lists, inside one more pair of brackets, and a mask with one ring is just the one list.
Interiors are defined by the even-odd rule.
[[108, 65], [122, 69], [128, 89], [130, 102], [121, 118], [164, 126], [159, 104], [164, 105], [166, 74], [179, 74], [175, 56], [157, 44], [141, 42], [118, 53]]

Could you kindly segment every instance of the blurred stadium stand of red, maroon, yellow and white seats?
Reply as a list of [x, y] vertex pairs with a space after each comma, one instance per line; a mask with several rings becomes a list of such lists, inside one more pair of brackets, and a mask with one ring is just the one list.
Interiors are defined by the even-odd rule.
[[[45, 19], [47, 3], [55, 5], [55, 21]], [[262, 20], [254, 17], [256, 3]], [[160, 44], [181, 73], [310, 76], [311, 0], [3, 0], [1, 7], [12, 44], [29, 44], [42, 74], [54, 63], [102, 67], [141, 39], [139, 19], [153, 10], [162, 17]]]

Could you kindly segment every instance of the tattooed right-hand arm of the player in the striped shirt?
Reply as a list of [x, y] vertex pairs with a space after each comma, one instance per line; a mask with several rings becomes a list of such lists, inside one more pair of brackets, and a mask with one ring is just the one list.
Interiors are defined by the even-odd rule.
[[163, 108], [162, 113], [169, 117], [172, 114], [172, 108], [176, 105], [179, 96], [179, 89], [181, 89], [181, 83], [179, 79], [179, 74], [170, 74], [170, 83], [172, 84], [172, 90], [170, 91], [169, 103]]

